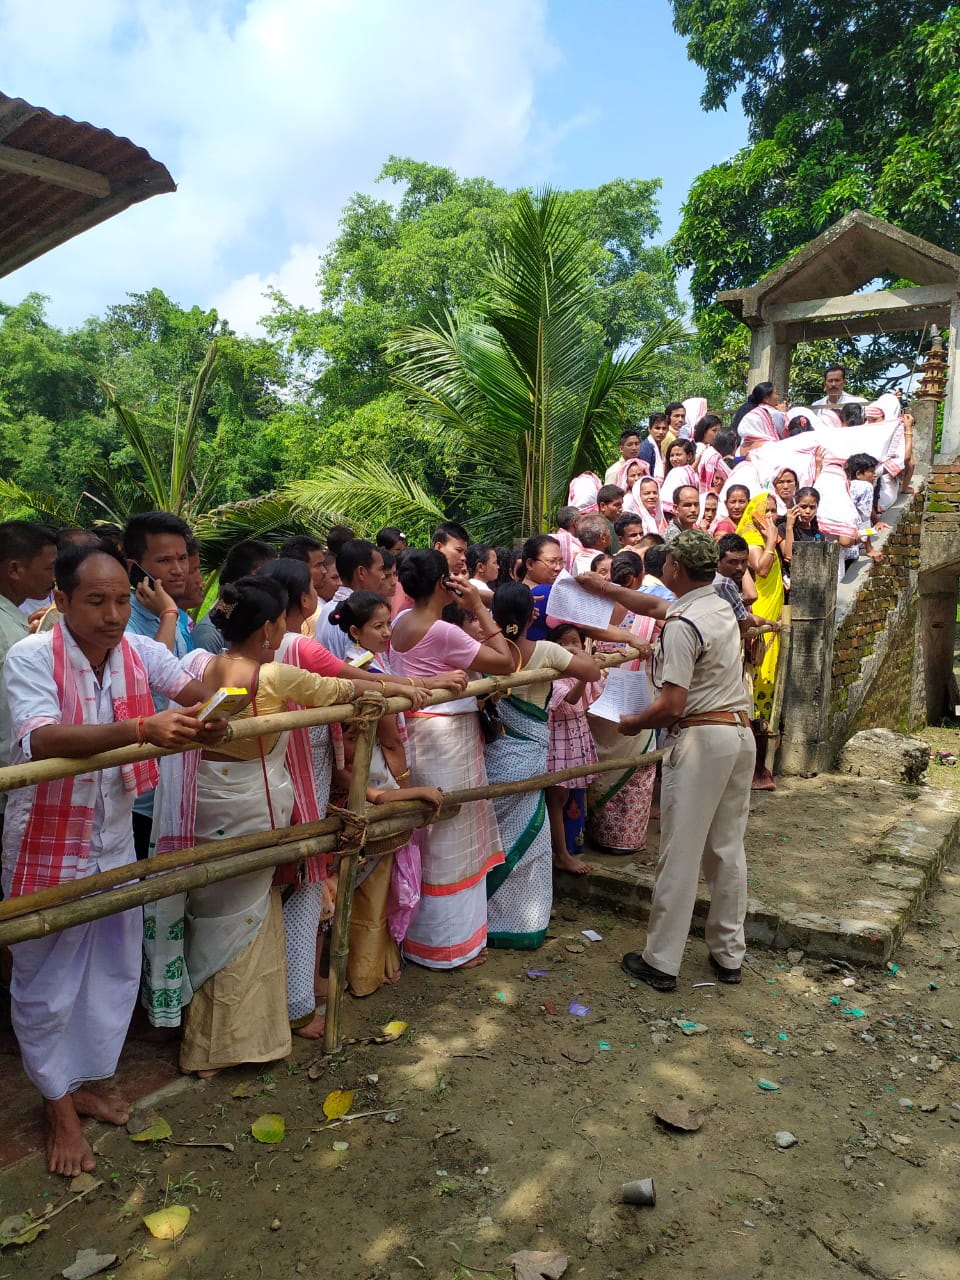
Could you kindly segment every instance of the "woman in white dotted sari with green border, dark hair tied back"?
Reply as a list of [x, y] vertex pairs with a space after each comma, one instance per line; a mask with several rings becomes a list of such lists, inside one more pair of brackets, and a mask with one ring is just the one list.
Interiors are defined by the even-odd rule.
[[[497, 588], [493, 617], [511, 648], [516, 671], [554, 667], [577, 680], [600, 678], [600, 668], [585, 653], [571, 653], [552, 640], [527, 639], [534, 598], [522, 582]], [[547, 772], [552, 678], [522, 685], [497, 704], [506, 732], [484, 750], [490, 782], [520, 782]], [[547, 936], [553, 905], [547, 797], [543, 791], [526, 791], [499, 796], [493, 806], [506, 859], [486, 876], [489, 945], [532, 950]]]

